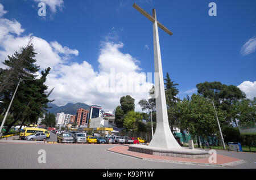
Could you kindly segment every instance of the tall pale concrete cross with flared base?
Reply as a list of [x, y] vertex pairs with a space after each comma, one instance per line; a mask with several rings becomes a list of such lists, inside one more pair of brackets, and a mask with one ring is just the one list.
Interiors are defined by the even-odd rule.
[[153, 36], [154, 36], [154, 64], [155, 64], [155, 97], [156, 97], [156, 130], [154, 138], [151, 140], [149, 146], [161, 147], [168, 149], [181, 148], [179, 143], [177, 143], [174, 135], [170, 130], [166, 106], [166, 95], [164, 92], [164, 82], [163, 82], [163, 70], [162, 70], [162, 60], [160, 53], [160, 44], [158, 36], [158, 27], [163, 29], [169, 35], [172, 32], [164, 27], [163, 24], [156, 20], [156, 11], [153, 9], [153, 16], [144, 11], [141, 7], [134, 3], [133, 7], [137, 9], [141, 14], [146, 16], [153, 23]]

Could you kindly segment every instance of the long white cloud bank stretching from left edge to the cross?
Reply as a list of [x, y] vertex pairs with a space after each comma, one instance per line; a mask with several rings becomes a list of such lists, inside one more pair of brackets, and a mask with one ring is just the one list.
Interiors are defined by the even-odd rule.
[[[51, 67], [46, 84], [48, 89], [55, 87], [50, 96], [51, 99], [55, 99], [53, 103], [65, 105], [68, 102], [84, 102], [88, 105], [101, 105], [105, 110], [113, 110], [119, 105], [121, 96], [130, 95], [135, 98], [135, 110], [141, 110], [138, 101], [148, 98], [148, 89], [152, 87], [152, 84], [147, 83], [146, 74], [140, 72], [138, 59], [121, 52], [124, 46], [122, 42], [110, 41], [113, 38], [105, 39], [102, 42], [101, 48], [98, 50], [100, 53], [96, 71], [95, 67], [86, 61], [82, 63], [65, 61], [72, 55], [79, 55], [78, 50], [63, 46], [54, 40], [48, 42], [41, 37], [32, 36], [32, 34], [22, 35], [24, 29], [16, 20], [0, 18], [1, 20], [6, 23], [0, 24], [0, 29], [3, 29], [0, 31], [0, 37], [2, 37], [0, 38], [0, 48], [2, 49], [0, 59], [4, 61], [7, 59], [7, 55], [14, 54], [19, 47], [26, 46], [30, 37], [33, 37], [32, 43], [35, 52], [38, 53], [36, 54], [37, 65], [43, 69]], [[111, 33], [111, 36], [118, 37], [115, 33]], [[113, 69], [115, 70], [114, 89], [110, 87], [111, 70]], [[109, 91], [102, 91], [101, 85], [110, 87]]]

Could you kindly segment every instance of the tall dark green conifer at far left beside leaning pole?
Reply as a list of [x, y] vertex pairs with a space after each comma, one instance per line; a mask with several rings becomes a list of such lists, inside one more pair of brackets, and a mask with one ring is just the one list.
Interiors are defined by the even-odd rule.
[[[47, 96], [46, 76], [49, 74], [51, 68], [47, 68], [45, 71], [41, 71], [42, 76], [36, 78], [36, 72], [39, 71], [35, 59], [35, 51], [33, 45], [28, 45], [26, 48], [21, 48], [20, 53], [15, 53], [12, 56], [8, 56], [8, 60], [3, 62], [8, 68], [4, 72], [8, 76], [11, 74], [10, 86], [6, 86], [1, 91], [1, 98], [4, 102], [1, 105], [1, 112], [5, 113], [7, 106], [10, 103], [11, 96], [13, 95], [16, 85], [20, 79], [18, 91], [16, 92], [13, 104], [10, 108], [10, 114], [13, 115], [14, 121], [9, 124], [7, 131], [10, 130], [17, 121], [24, 123], [36, 123], [40, 114], [46, 112], [48, 108], [47, 103], [50, 102]], [[23, 59], [20, 61], [20, 59]], [[9, 72], [11, 71], [11, 73]], [[9, 74], [8, 74], [9, 73]], [[1, 80], [1, 78], [0, 78]], [[4, 82], [0, 82], [4, 83]]]

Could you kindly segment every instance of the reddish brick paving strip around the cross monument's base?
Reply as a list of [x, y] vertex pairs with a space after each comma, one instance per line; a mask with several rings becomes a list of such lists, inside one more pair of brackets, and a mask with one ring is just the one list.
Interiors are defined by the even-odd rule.
[[128, 151], [129, 147], [126, 145], [123, 146], [115, 146], [112, 148], [109, 148], [108, 151], [121, 153], [122, 155], [132, 156], [141, 158], [144, 160], [156, 160], [156, 161], [170, 161], [170, 162], [183, 162], [187, 164], [205, 164], [205, 165], [232, 165], [236, 163], [243, 162], [243, 160], [240, 160], [238, 158], [234, 157], [228, 157], [223, 155], [216, 156], [217, 162], [214, 164], [209, 163], [209, 158], [184, 158], [184, 157], [169, 157], [169, 156], [156, 156], [156, 155], [148, 155], [145, 153], [139, 153], [139, 152], [133, 152]]

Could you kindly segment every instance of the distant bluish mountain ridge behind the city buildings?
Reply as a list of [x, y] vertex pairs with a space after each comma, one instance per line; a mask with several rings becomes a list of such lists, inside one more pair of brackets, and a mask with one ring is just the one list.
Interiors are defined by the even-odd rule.
[[53, 113], [53, 114], [57, 114], [57, 113], [65, 113], [65, 114], [76, 114], [76, 110], [79, 108], [84, 108], [86, 110], [89, 110], [90, 106], [81, 102], [78, 102], [76, 104], [73, 103], [68, 103], [65, 106], [57, 106], [55, 104], [52, 104], [51, 102], [49, 102], [47, 104], [48, 106], [51, 106], [52, 108], [47, 109], [49, 112]]

